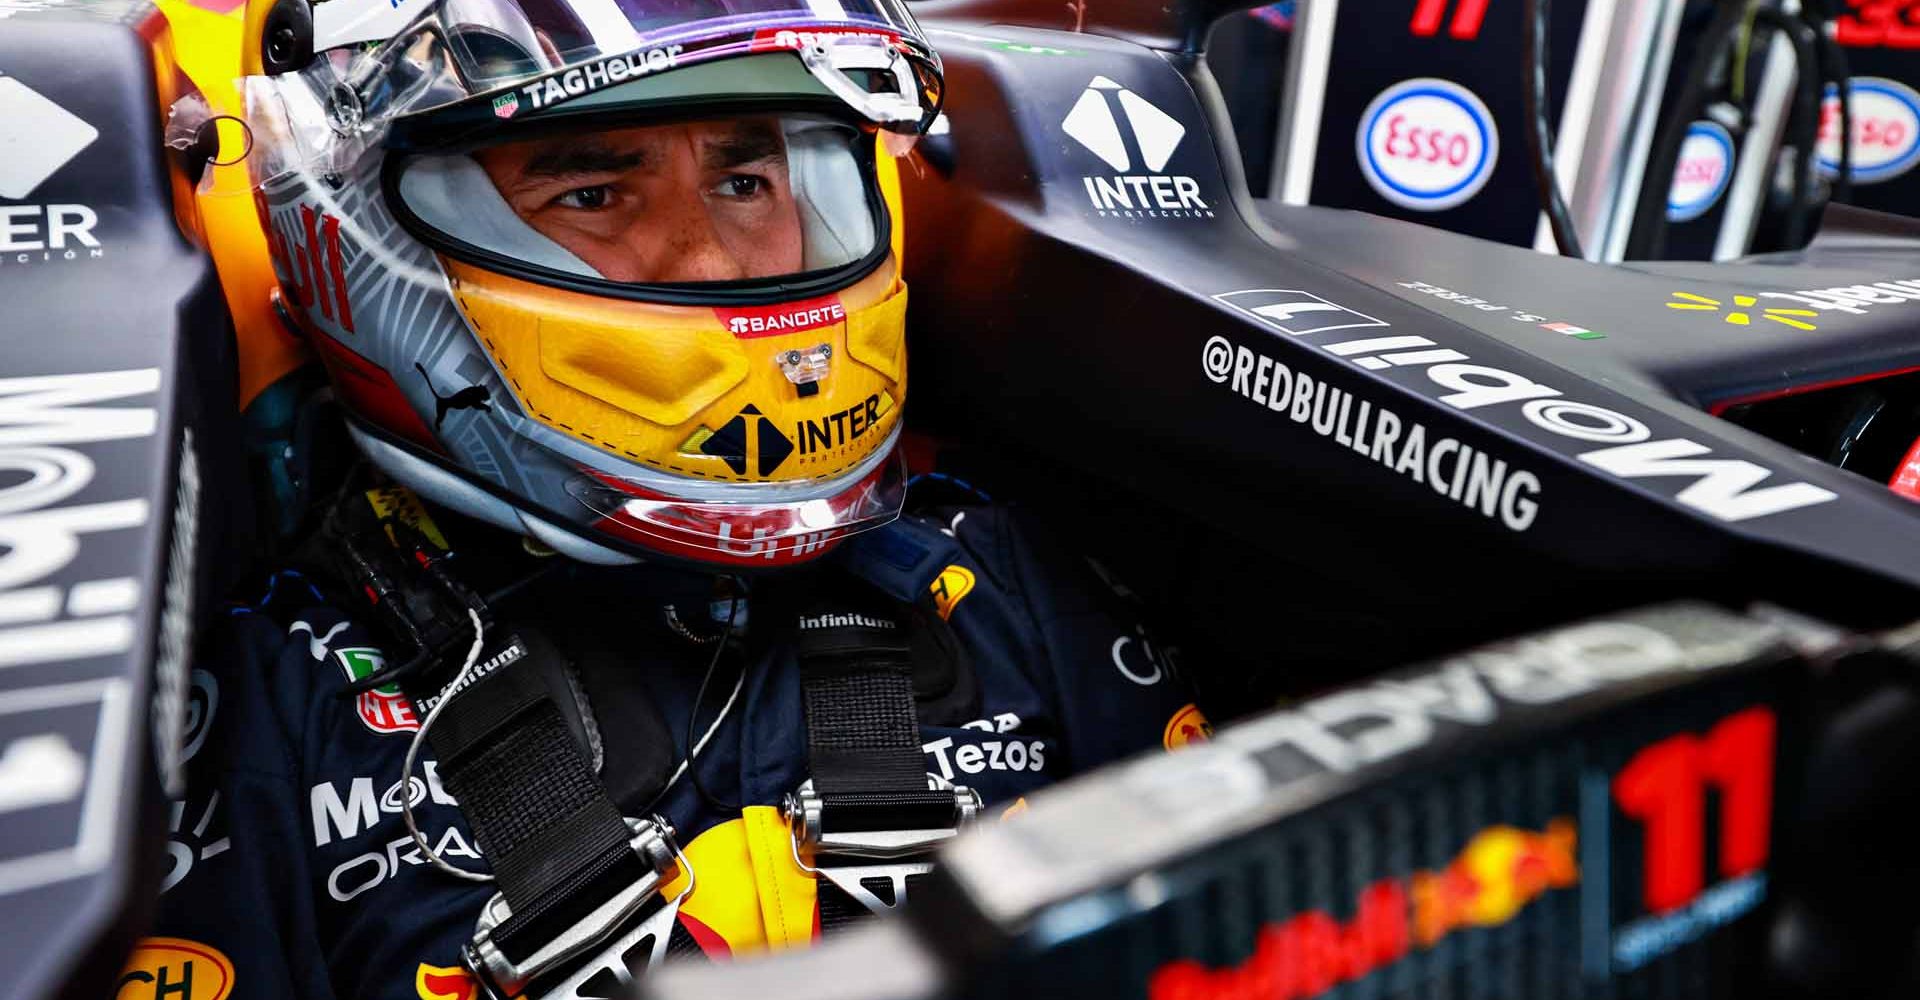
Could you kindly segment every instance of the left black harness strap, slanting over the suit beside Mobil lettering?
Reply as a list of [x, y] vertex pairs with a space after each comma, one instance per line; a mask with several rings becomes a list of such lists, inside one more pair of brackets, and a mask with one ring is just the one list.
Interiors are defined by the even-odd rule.
[[[530, 647], [528, 660], [541, 645]], [[453, 697], [428, 743], [513, 916], [493, 944], [515, 962], [647, 877], [618, 806], [566, 726], [559, 670], [518, 662]], [[564, 685], [564, 679], [559, 683]]]

